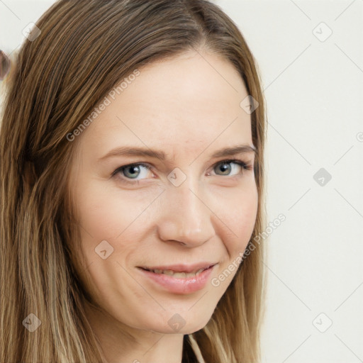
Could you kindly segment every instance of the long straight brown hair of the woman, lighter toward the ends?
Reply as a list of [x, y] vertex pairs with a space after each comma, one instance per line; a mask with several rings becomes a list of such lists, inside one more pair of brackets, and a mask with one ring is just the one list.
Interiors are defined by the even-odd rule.
[[[251, 113], [259, 195], [251, 243], [265, 223], [259, 72], [240, 30], [206, 0], [60, 0], [36, 26], [41, 33], [12, 64], [1, 123], [0, 361], [101, 362], [74, 266], [79, 225], [68, 181], [77, 140], [67, 134], [135, 69], [189, 50], [223, 56], [259, 103]], [[243, 259], [206, 327], [186, 336], [183, 362], [196, 362], [193, 342], [207, 363], [259, 361], [263, 256], [259, 244]], [[25, 328], [30, 314], [41, 322], [34, 332]]]

